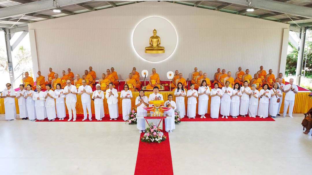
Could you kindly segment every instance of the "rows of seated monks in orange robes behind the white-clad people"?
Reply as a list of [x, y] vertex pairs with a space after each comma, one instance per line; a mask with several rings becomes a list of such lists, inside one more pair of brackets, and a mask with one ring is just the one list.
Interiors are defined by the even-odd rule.
[[[197, 71], [198, 69], [195, 67], [194, 72], [192, 72], [192, 81], [191, 83], [194, 84], [195, 89], [197, 89], [203, 80], [206, 80], [207, 86], [211, 87], [210, 79], [207, 78], [207, 73], [203, 73], [202, 71]], [[67, 69], [67, 74], [65, 70], [62, 71], [62, 76], [52, 71], [52, 68], [49, 68], [49, 73], [47, 74], [47, 79], [41, 75], [41, 72], [38, 71], [38, 77], [36, 78], [36, 85], [41, 86], [41, 89], [45, 89], [45, 84], [51, 84], [52, 89], [56, 89], [56, 84], [60, 83], [62, 88], [66, 86], [66, 80], [71, 80], [71, 83], [75, 85], [77, 88], [82, 85], [82, 80], [86, 80], [87, 85], [93, 87], [95, 85], [95, 78], [96, 73], [92, 70], [92, 67], [89, 67], [89, 71], [85, 70], [85, 74], [80, 78], [79, 74], [74, 76], [74, 73], [71, 72], [71, 69]], [[262, 85], [265, 83], [269, 85], [269, 87], [273, 87], [275, 82], [278, 82], [279, 78], [282, 78], [283, 74], [279, 73], [278, 78], [275, 79], [275, 75], [272, 74], [272, 69], [269, 70], [267, 74], [265, 70], [263, 70], [263, 66], [260, 66], [260, 70], [254, 74], [254, 78], [251, 77], [249, 74], [249, 69], [246, 71], [242, 71], [242, 68], [239, 67], [238, 71], [235, 73], [235, 79], [232, 77], [232, 73], [229, 71], [226, 73], [225, 69], [218, 68], [217, 72], [214, 74], [214, 83], [218, 83], [219, 87], [222, 88], [226, 81], [230, 82], [230, 87], [232, 87], [235, 83], [243, 84], [243, 82], [247, 81], [249, 86], [252, 84], [257, 85], [257, 90], [261, 90]], [[76, 79], [75, 79], [76, 78]], [[106, 70], [106, 74], [102, 73], [101, 78], [99, 79], [99, 84], [101, 85], [101, 90], [106, 91], [108, 88], [109, 83], [113, 83], [114, 87], [119, 84], [119, 78], [117, 72], [112, 67], [111, 69]], [[129, 78], [125, 80], [125, 83], [128, 84], [129, 90], [137, 91], [141, 89], [142, 83], [140, 82], [140, 74], [136, 71], [134, 67], [129, 73]], [[182, 83], [184, 87], [187, 86], [187, 81], [183, 78], [183, 74], [179, 73], [178, 70], [175, 71], [175, 75], [173, 77], [172, 83], [170, 87], [173, 88], [173, 91], [177, 87], [178, 83]], [[282, 82], [285, 84], [284, 78], [282, 78]], [[28, 72], [25, 72], [25, 77], [23, 78], [23, 84], [31, 84], [33, 90], [36, 89], [34, 86], [34, 80], [32, 77], [29, 76]], [[159, 89], [163, 89], [163, 85], [160, 84], [159, 74], [156, 73], [156, 69], [152, 69], [152, 73], [149, 75], [149, 83], [147, 86], [144, 87], [144, 90], [152, 90], [155, 86]]]

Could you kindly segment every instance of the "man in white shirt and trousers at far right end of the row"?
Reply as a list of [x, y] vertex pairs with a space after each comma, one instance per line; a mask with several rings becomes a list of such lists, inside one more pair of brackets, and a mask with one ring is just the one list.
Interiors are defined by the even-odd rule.
[[285, 85], [284, 87], [285, 100], [284, 100], [283, 117], [286, 116], [287, 108], [289, 106], [288, 115], [290, 118], [293, 118], [292, 111], [294, 109], [294, 104], [295, 104], [295, 94], [298, 93], [298, 87], [297, 85], [293, 83], [294, 83], [294, 79], [290, 78], [289, 84]]

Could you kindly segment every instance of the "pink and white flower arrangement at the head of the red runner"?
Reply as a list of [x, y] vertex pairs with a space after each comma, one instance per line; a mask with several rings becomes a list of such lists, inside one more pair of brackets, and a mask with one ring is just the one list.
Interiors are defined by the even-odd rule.
[[166, 140], [166, 136], [163, 135], [163, 132], [160, 131], [160, 128], [157, 128], [156, 125], [149, 125], [145, 129], [145, 134], [141, 137], [142, 142], [157, 142], [160, 143]]

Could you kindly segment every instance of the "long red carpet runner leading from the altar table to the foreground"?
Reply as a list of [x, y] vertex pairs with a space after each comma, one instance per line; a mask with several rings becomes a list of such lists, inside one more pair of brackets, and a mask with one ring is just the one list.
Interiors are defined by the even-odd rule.
[[[165, 128], [164, 120], [163, 128]], [[144, 133], [141, 133], [134, 175], [173, 175], [169, 135], [167, 132], [163, 134], [167, 137], [165, 141], [160, 144], [148, 144], [141, 142], [141, 137], [144, 135]]]

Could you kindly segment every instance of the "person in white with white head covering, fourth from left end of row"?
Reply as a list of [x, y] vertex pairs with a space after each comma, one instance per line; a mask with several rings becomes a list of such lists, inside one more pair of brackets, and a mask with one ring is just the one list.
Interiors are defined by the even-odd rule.
[[38, 120], [44, 121], [47, 117], [45, 107], [46, 93], [41, 91], [41, 86], [37, 86], [37, 92], [32, 95], [32, 99], [35, 100], [36, 116]]

